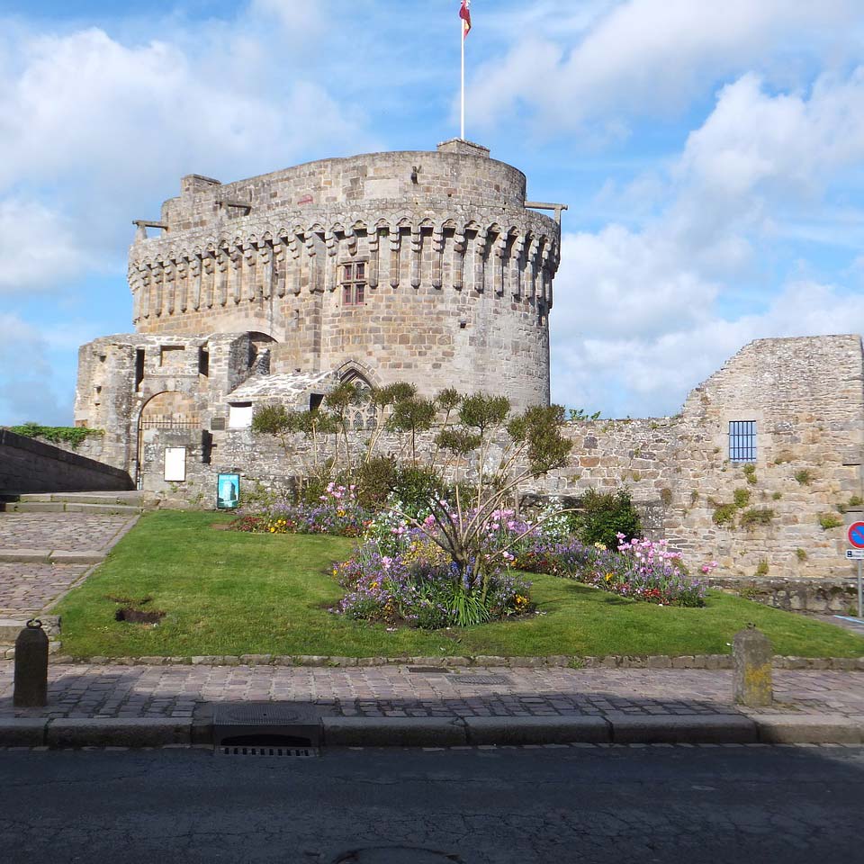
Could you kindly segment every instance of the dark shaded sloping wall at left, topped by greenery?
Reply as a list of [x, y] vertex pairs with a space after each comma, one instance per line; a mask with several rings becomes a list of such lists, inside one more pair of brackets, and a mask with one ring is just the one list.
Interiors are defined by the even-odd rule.
[[133, 488], [119, 468], [0, 429], [0, 495]]

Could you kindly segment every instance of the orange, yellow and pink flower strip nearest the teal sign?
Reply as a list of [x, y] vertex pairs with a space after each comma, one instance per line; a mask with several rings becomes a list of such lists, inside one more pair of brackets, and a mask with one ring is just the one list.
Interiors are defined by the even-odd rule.
[[354, 486], [329, 483], [320, 503], [292, 504], [285, 500], [267, 502], [247, 512], [240, 509], [232, 524], [235, 531], [257, 534], [333, 534], [361, 536], [372, 521], [372, 514], [361, 507]]

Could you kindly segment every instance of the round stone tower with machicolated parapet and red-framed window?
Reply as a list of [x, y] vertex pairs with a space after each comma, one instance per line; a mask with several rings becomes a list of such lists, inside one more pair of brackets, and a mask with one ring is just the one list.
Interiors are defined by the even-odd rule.
[[546, 404], [560, 226], [525, 195], [525, 175], [462, 140], [231, 184], [186, 176], [159, 222], [137, 223], [136, 329], [247, 332], [272, 374]]

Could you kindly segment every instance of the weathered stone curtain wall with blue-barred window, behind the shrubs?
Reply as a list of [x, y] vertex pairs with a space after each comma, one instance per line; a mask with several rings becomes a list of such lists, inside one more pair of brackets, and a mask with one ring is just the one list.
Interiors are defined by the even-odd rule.
[[[728, 423], [735, 419], [757, 423], [752, 473], [729, 461]], [[625, 488], [642, 510], [649, 534], [665, 536], [691, 564], [718, 561], [718, 578], [752, 578], [757, 572], [784, 579], [854, 575], [854, 564], [843, 557], [843, 523], [864, 518], [860, 507], [848, 507], [854, 496], [864, 496], [857, 336], [754, 342], [694, 390], [676, 417], [578, 422], [569, 425], [569, 434], [571, 464], [527, 484], [523, 495], [578, 496], [589, 489]], [[290, 484], [278, 443], [248, 430], [217, 431], [211, 464], [201, 461], [200, 438], [184, 438], [190, 447], [189, 480], [168, 490], [160, 479], [163, 447], [184, 446], [178, 440], [172, 437], [167, 445], [156, 435], [145, 446], [146, 488], [169, 500], [207, 506], [220, 471], [239, 471], [246, 490], [256, 483], [270, 489]], [[426, 437], [421, 449], [428, 443]], [[356, 446], [362, 446], [362, 437]], [[404, 446], [401, 437], [384, 437], [381, 452], [400, 455]], [[310, 455], [302, 437], [293, 448]], [[717, 525], [717, 509], [734, 504], [736, 490], [749, 501], [733, 508], [731, 524]], [[849, 512], [841, 514], [838, 505]], [[746, 514], [765, 510], [771, 513], [764, 524], [747, 524]], [[841, 525], [824, 528], [820, 518], [825, 517]]]

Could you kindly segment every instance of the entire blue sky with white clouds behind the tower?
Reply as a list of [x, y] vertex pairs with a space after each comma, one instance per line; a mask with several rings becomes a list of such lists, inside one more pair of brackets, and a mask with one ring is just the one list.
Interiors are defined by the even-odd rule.
[[[0, 0], [0, 424], [130, 330], [133, 219], [458, 134], [459, 0]], [[466, 137], [567, 202], [553, 396], [674, 413], [753, 338], [864, 330], [860, 0], [473, 0]]]

